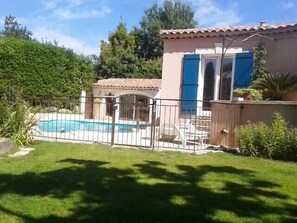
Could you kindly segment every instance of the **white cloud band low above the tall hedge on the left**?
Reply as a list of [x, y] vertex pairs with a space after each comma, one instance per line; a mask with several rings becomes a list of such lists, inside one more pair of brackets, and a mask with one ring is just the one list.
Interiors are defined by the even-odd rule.
[[53, 30], [47, 30], [45, 28], [39, 28], [34, 30], [34, 38], [38, 41], [50, 41], [54, 40], [58, 41], [59, 46], [64, 46], [66, 48], [73, 49], [73, 51], [77, 54], [91, 55], [91, 54], [99, 54], [98, 47], [88, 46], [78, 39], [75, 39], [71, 36], [65, 35], [63, 33], [59, 33]]

